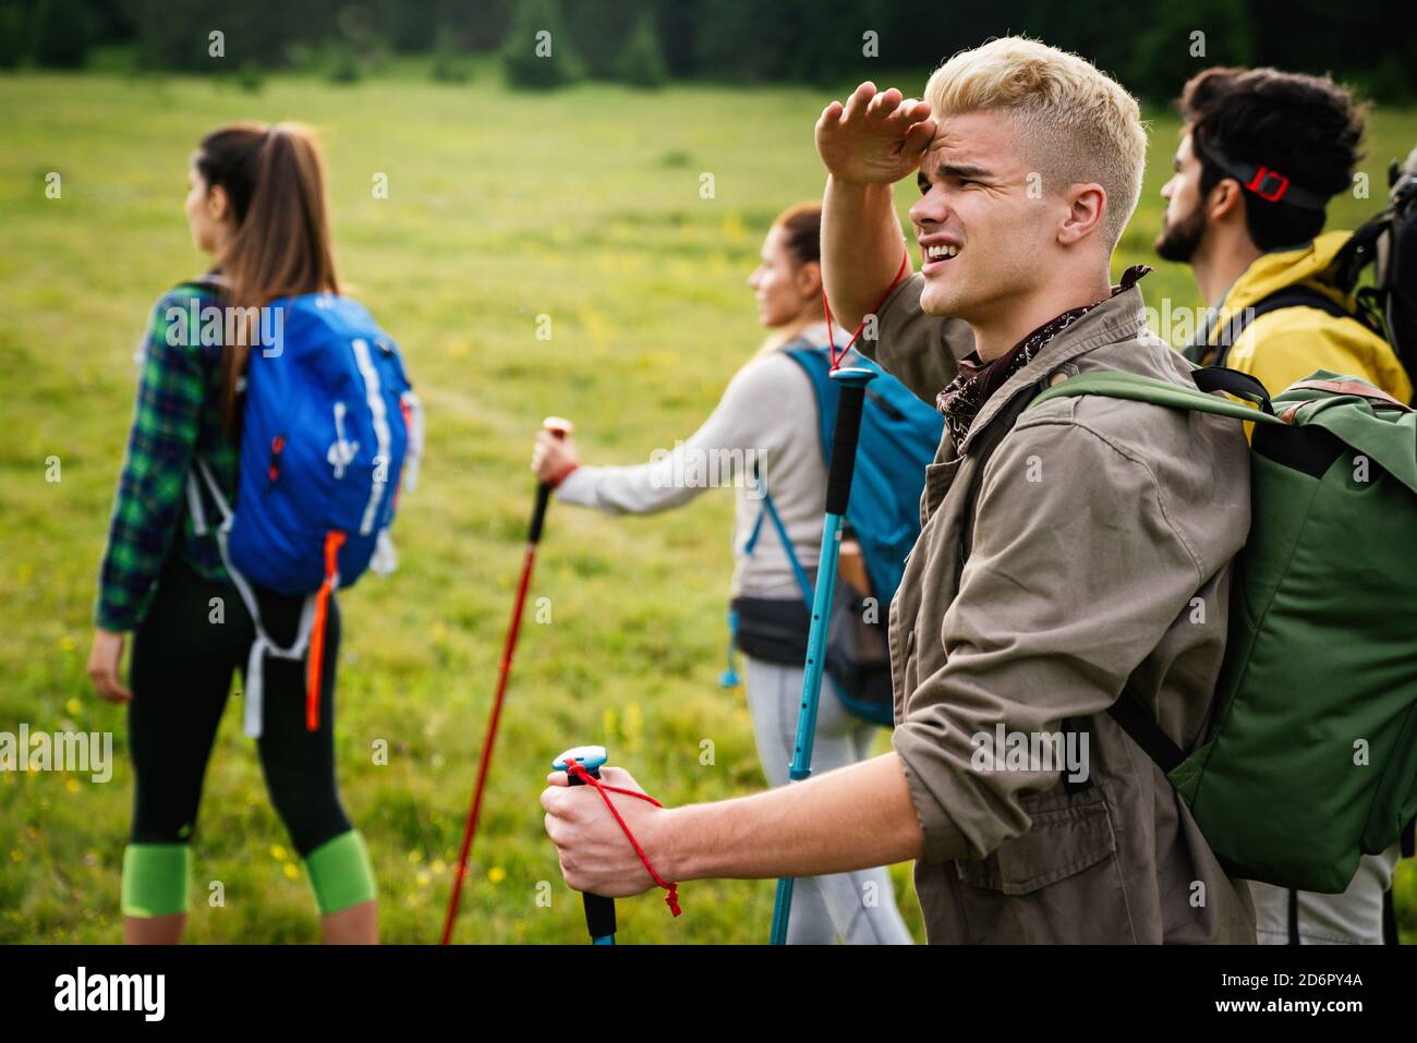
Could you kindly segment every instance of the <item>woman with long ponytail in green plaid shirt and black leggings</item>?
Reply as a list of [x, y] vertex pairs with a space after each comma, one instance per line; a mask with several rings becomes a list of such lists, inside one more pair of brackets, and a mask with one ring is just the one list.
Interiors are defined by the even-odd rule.
[[[279, 298], [339, 293], [322, 163], [299, 128], [222, 126], [188, 170], [187, 221], [214, 268], [157, 302], [118, 485], [95, 611], [89, 676], [128, 706], [133, 825], [123, 855], [123, 940], [176, 942], [188, 908], [190, 845], [203, 777], [232, 675], [258, 636], [187, 479], [201, 461], [227, 503], [239, 462], [244, 374]], [[220, 309], [224, 336], [196, 316]], [[275, 310], [275, 309], [268, 309]], [[220, 343], [214, 343], [220, 342]], [[305, 598], [255, 588], [272, 641], [292, 643]], [[133, 635], [128, 684], [119, 676]], [[334, 778], [334, 665], [340, 618], [324, 605], [317, 717], [307, 672], [268, 656], [258, 748], [266, 787], [307, 872], [327, 942], [377, 941], [374, 876]], [[249, 689], [251, 677], [245, 679]], [[313, 700], [316, 696], [310, 696]], [[313, 710], [313, 707], [310, 707]], [[317, 727], [309, 727], [317, 720]]]

